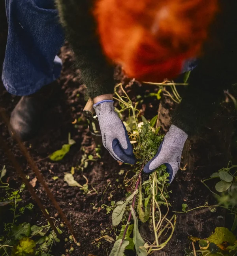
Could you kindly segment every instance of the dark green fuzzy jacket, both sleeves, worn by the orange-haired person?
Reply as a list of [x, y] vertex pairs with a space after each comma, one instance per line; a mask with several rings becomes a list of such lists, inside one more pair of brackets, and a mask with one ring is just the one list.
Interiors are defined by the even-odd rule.
[[[92, 15], [95, 0], [56, 0], [60, 19], [75, 52], [91, 98], [114, 90], [114, 67], [102, 52]], [[213, 115], [223, 90], [237, 74], [237, 1], [219, 0], [220, 13], [211, 28], [198, 67], [191, 72], [189, 86], [171, 122], [189, 135], [197, 132]], [[198, 21], [197, 21], [198, 22]]]

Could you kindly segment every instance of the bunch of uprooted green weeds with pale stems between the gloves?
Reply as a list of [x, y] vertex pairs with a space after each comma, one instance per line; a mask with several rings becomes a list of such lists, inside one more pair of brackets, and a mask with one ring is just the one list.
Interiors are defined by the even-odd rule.
[[[123, 93], [122, 96], [117, 92], [118, 87]], [[159, 128], [154, 128], [157, 116], [150, 122], [141, 116], [142, 122], [138, 122], [140, 115], [137, 109], [138, 103], [132, 103], [121, 84], [115, 88], [114, 98], [119, 101], [121, 108], [117, 109], [119, 115], [122, 115], [125, 110], [129, 113], [128, 120], [124, 121], [124, 124], [128, 130], [130, 141], [134, 144], [134, 154], [138, 160], [134, 166], [134, 176], [131, 179], [126, 179], [126, 176], [124, 178], [125, 187], [129, 187], [133, 192], [128, 194], [124, 202], [117, 202], [112, 213], [113, 226], [118, 226], [120, 222], [127, 222], [127, 224], [122, 226], [110, 256], [123, 256], [125, 249], [133, 250], [134, 248], [139, 256], [146, 256], [156, 250], [162, 250], [167, 245], [173, 235], [176, 223], [175, 215], [171, 219], [167, 218], [169, 213], [167, 199], [171, 191], [167, 190], [169, 174], [166, 172], [166, 166], [160, 166], [150, 174], [148, 180], [142, 181], [143, 166], [155, 156], [164, 136], [158, 135]], [[162, 214], [162, 205], [167, 208], [165, 214]], [[127, 220], [124, 216], [128, 216]], [[149, 222], [155, 237], [153, 243], [145, 243], [141, 237], [137, 216], [141, 222]], [[132, 217], [134, 225], [130, 224]], [[130, 238], [132, 232], [133, 239]], [[162, 242], [160, 243], [161, 237]]]

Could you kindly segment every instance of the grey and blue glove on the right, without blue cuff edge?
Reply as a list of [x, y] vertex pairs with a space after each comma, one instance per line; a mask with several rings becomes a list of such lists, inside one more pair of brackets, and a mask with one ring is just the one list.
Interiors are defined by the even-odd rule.
[[167, 132], [160, 144], [155, 157], [143, 168], [144, 172], [153, 172], [160, 165], [165, 164], [166, 170], [169, 173], [169, 183], [171, 183], [179, 170], [181, 154], [187, 138], [188, 134], [172, 124], [169, 128], [169, 132]]

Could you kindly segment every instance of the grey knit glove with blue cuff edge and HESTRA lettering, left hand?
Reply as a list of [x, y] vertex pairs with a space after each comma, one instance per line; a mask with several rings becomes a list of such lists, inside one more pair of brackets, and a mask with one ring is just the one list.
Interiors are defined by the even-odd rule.
[[104, 147], [120, 162], [135, 164], [133, 148], [127, 130], [115, 112], [113, 100], [102, 100], [94, 104]]

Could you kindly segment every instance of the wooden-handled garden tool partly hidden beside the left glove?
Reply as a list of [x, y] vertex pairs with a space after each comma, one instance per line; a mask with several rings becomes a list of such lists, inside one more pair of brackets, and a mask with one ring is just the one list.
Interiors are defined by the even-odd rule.
[[92, 99], [88, 99], [87, 104], [85, 105], [83, 109], [83, 115], [85, 118], [87, 118], [88, 127], [92, 134], [92, 137], [94, 138], [96, 144], [102, 144], [102, 136], [100, 132], [100, 126], [99, 122], [96, 116], [96, 113], [93, 108], [94, 102]]

